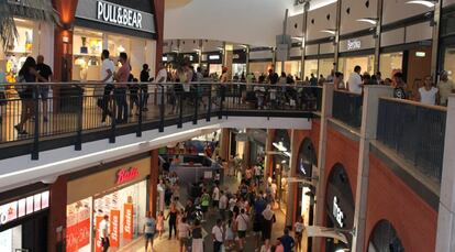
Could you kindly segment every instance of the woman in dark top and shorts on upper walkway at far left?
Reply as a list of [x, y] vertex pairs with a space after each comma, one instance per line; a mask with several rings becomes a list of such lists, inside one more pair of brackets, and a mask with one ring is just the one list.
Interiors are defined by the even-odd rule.
[[36, 79], [41, 79], [43, 81], [45, 80], [36, 72], [35, 59], [33, 57], [26, 57], [24, 64], [19, 70], [16, 80], [18, 92], [22, 105], [21, 120], [16, 125], [14, 125], [18, 134], [27, 134], [27, 132], [24, 130], [24, 124], [35, 114], [35, 103], [33, 101], [33, 98], [36, 98], [37, 96], [36, 88], [26, 84], [35, 83]]

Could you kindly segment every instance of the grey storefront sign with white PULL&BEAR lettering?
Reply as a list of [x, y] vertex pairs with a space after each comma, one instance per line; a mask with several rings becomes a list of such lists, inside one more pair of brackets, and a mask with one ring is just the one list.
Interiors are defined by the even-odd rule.
[[142, 32], [155, 32], [153, 14], [103, 0], [79, 0], [76, 17]]

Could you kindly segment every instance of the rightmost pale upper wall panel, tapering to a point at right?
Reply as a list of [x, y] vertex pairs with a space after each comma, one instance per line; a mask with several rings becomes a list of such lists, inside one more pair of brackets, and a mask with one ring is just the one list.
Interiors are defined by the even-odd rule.
[[384, 0], [382, 24], [411, 18], [431, 11], [421, 4], [406, 3], [408, 0]]

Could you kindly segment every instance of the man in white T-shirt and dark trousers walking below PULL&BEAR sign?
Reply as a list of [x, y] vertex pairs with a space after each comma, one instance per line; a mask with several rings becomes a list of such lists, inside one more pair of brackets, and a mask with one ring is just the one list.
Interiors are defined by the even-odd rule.
[[98, 106], [102, 109], [101, 124], [106, 125], [106, 118], [112, 117], [112, 112], [109, 110], [109, 102], [111, 100], [111, 92], [114, 89], [113, 77], [115, 66], [109, 58], [109, 51], [103, 50], [101, 53], [101, 84], [104, 85], [104, 90], [101, 99], [98, 99]]

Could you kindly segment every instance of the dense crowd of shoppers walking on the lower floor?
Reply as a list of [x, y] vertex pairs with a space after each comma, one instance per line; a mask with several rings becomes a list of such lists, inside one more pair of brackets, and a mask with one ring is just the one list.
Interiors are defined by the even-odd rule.
[[[277, 221], [274, 212], [276, 184], [274, 188], [273, 182], [263, 179], [263, 167], [259, 163], [242, 168], [242, 162], [238, 158], [235, 162], [237, 164], [231, 163], [230, 166], [240, 167], [233, 169], [235, 172], [231, 176], [242, 177], [235, 190], [231, 191], [229, 186], [221, 185], [220, 179], [201, 177], [193, 185], [196, 189], [189, 194], [185, 206], [179, 202], [181, 182], [178, 175], [175, 172], [165, 172], [158, 184], [158, 188], [166, 191], [165, 205], [158, 209], [156, 220], [147, 215], [144, 230], [147, 230], [152, 222], [154, 227], [152, 233], [156, 234], [157, 239], [162, 239], [165, 233], [165, 221], [168, 221], [167, 239], [177, 239], [180, 252], [202, 252], [204, 251], [202, 224], [208, 220], [215, 220], [209, 234], [214, 252], [245, 251], [247, 237], [253, 238], [255, 251], [290, 252], [293, 246], [299, 248], [304, 229], [302, 219], [296, 222], [295, 237], [285, 229], [281, 237], [271, 240], [271, 231]], [[153, 245], [155, 235], [151, 232], [144, 234], [147, 245], [151, 242]]]

